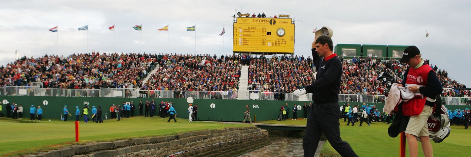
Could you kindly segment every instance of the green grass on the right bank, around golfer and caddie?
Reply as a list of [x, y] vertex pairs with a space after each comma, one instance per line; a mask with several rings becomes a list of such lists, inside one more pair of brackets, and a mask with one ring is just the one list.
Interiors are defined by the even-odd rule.
[[[290, 124], [290, 125], [306, 125], [305, 119], [286, 120], [286, 121], [263, 121], [257, 123], [271, 124]], [[368, 127], [363, 123], [362, 127], [346, 126], [347, 122], [340, 120], [340, 132], [342, 140], [349, 142], [352, 149], [360, 157], [398, 157], [399, 156], [399, 137], [391, 138], [388, 135], [388, 127], [390, 125], [382, 122], [373, 122]], [[450, 135], [440, 143], [431, 141], [433, 147], [433, 155], [435, 157], [463, 156], [468, 154], [471, 148], [471, 130], [465, 130], [464, 126], [451, 126]], [[422, 147], [419, 145], [419, 157], [423, 157]], [[322, 148], [322, 154], [325, 157], [340, 157], [340, 155], [325, 142]], [[406, 145], [406, 156], [409, 156], [409, 150]], [[466, 156], [466, 155], [465, 155]]]

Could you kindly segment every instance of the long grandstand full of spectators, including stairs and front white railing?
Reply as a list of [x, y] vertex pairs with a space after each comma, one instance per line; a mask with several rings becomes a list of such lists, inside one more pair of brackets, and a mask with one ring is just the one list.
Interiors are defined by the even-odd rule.
[[[371, 95], [368, 101], [383, 101], [377, 91], [382, 86], [376, 81], [378, 74], [386, 71], [402, 78], [406, 66], [396, 58], [382, 58], [341, 57], [341, 99]], [[315, 80], [311, 63], [311, 58], [304, 56], [247, 54], [211, 57], [97, 52], [23, 57], [0, 67], [0, 95], [310, 100], [310, 95], [298, 99], [291, 92]], [[436, 65], [432, 68], [438, 70], [444, 88], [465, 88], [446, 70]], [[442, 97], [447, 99], [442, 101], [464, 105], [471, 102], [470, 96], [466, 90], [444, 90]]]

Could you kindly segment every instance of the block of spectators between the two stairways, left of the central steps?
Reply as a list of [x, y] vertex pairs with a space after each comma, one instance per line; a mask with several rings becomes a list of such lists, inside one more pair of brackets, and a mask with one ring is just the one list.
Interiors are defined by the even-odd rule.
[[240, 56], [165, 54], [143, 84], [148, 91], [237, 91]]

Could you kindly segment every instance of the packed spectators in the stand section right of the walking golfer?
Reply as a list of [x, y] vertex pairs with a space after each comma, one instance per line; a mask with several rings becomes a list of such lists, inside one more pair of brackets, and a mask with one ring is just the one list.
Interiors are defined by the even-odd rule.
[[[430, 63], [430, 60], [425, 60]], [[384, 89], [385, 86], [376, 81], [378, 74], [388, 72], [398, 76], [398, 82], [404, 78], [407, 66], [401, 64], [396, 59], [380, 60], [379, 58], [353, 58], [343, 59], [343, 74], [341, 81], [341, 94], [367, 94], [381, 95], [378, 87]], [[429, 64], [430, 65], [430, 64]], [[456, 82], [448, 76], [445, 69], [439, 69], [437, 65], [430, 65], [440, 81], [443, 88], [466, 88], [465, 85]], [[438, 71], [437, 71], [438, 70]], [[468, 90], [443, 90], [442, 97], [470, 97]]]

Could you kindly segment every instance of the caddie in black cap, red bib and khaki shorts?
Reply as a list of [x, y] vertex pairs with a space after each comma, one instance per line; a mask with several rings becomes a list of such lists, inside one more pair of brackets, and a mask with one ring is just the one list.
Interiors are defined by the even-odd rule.
[[406, 127], [407, 144], [411, 157], [417, 157], [417, 140], [422, 141], [422, 151], [425, 157], [433, 157], [433, 149], [429, 140], [427, 120], [435, 106], [436, 96], [443, 91], [442, 84], [433, 69], [421, 58], [422, 54], [415, 46], [409, 46], [399, 60], [409, 67], [404, 73], [404, 80], [398, 86], [406, 86], [414, 93], [420, 93], [424, 97], [414, 97], [403, 102], [402, 114], [411, 116]]

